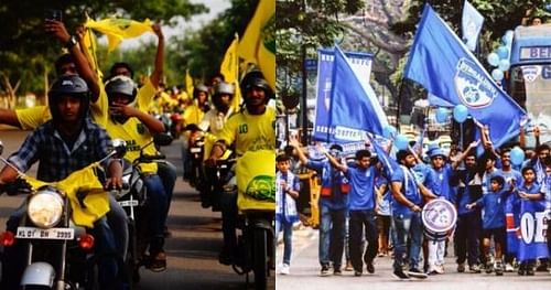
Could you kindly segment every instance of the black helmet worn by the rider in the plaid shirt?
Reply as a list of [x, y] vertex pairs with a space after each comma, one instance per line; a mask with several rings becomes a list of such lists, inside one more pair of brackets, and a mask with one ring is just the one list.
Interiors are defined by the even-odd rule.
[[56, 120], [60, 117], [60, 111], [57, 110], [57, 101], [60, 97], [72, 96], [80, 99], [80, 117], [85, 117], [88, 114], [88, 108], [90, 106], [90, 94], [88, 90], [88, 85], [86, 82], [78, 77], [77, 75], [63, 75], [57, 78], [50, 92], [47, 92], [47, 100], [50, 104], [50, 112], [52, 118]]

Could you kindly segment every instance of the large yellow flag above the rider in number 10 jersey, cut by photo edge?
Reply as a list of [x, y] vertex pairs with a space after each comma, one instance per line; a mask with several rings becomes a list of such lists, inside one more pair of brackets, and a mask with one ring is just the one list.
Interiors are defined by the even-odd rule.
[[239, 56], [260, 67], [266, 80], [276, 89], [276, 1], [260, 0], [239, 42]]

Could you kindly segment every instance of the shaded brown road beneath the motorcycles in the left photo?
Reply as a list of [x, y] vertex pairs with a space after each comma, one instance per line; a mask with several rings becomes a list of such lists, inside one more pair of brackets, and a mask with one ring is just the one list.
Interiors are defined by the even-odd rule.
[[[3, 157], [15, 151], [26, 132], [1, 131], [4, 143]], [[246, 289], [245, 277], [235, 273], [230, 267], [218, 264], [218, 249], [222, 247], [220, 214], [204, 210], [198, 194], [182, 181], [180, 141], [163, 148], [168, 159], [179, 167], [179, 180], [174, 190], [169, 228], [172, 237], [166, 239], [169, 268], [161, 273], [141, 269], [142, 280], [138, 289]], [[33, 170], [31, 171], [34, 174]], [[0, 196], [0, 229], [6, 218], [21, 203], [21, 196]], [[252, 280], [252, 278], [251, 278]], [[273, 277], [269, 289], [274, 288]]]

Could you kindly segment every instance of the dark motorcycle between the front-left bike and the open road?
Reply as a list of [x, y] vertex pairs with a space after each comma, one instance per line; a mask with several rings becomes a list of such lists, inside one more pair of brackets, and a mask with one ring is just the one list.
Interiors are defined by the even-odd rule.
[[151, 233], [149, 233], [149, 228], [145, 226], [149, 223], [147, 210], [148, 193], [139, 164], [165, 160], [166, 158], [162, 153], [148, 155], [143, 153], [143, 149], [152, 143], [156, 147], [169, 146], [172, 140], [172, 137], [168, 133], [156, 135], [153, 141], [140, 149], [140, 157], [138, 159], [133, 162], [123, 160], [122, 190], [111, 191], [117, 202], [127, 212], [129, 219], [129, 247], [125, 265], [128, 272], [131, 273], [134, 283], [141, 279], [140, 268], [148, 266], [149, 257], [145, 255], [145, 249], [151, 239]]

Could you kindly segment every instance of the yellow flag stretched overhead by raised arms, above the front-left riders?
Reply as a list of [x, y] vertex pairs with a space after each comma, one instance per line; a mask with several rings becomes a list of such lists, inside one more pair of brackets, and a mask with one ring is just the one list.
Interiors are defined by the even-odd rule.
[[100, 21], [88, 20], [85, 23], [85, 28], [90, 28], [106, 34], [109, 51], [117, 49], [119, 43], [125, 39], [137, 37], [148, 31], [153, 32], [149, 19], [145, 19], [143, 22], [119, 18], [108, 18]]

